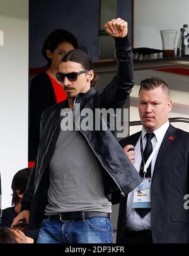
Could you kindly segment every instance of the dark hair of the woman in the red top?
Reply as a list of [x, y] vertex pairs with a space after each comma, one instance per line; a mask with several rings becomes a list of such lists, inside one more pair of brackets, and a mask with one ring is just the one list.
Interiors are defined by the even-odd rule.
[[78, 48], [78, 42], [77, 38], [69, 31], [67, 30], [54, 30], [50, 33], [50, 35], [45, 39], [45, 42], [43, 44], [42, 54], [43, 57], [47, 60], [47, 66], [50, 67], [51, 65], [51, 59], [47, 56], [47, 50], [49, 49], [50, 52], [54, 52], [54, 50], [57, 48], [59, 44], [62, 44], [63, 42], [68, 42], [71, 44], [75, 49]]

